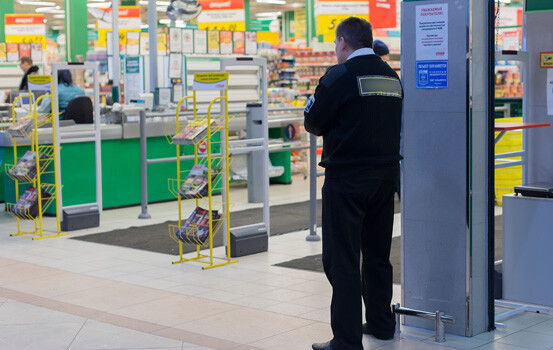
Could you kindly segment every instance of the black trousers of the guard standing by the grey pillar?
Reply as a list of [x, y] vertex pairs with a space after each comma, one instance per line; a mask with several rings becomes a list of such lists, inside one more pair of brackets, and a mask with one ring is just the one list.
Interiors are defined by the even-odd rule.
[[363, 349], [361, 295], [371, 333], [394, 334], [390, 248], [397, 178], [397, 167], [325, 178], [323, 266], [332, 285], [333, 350]]

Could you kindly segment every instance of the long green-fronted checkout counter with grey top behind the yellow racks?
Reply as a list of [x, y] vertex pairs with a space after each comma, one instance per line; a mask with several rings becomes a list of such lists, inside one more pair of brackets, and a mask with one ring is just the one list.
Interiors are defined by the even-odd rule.
[[[230, 111], [232, 114], [232, 111]], [[233, 114], [229, 121], [229, 132], [241, 134], [246, 129], [245, 111]], [[11, 120], [11, 119], [10, 119]], [[11, 121], [4, 120], [7, 126]], [[269, 127], [273, 135], [279, 134], [283, 123], [294, 123], [303, 120], [300, 111], [269, 113]], [[168, 122], [175, 121], [175, 111], [148, 113], [146, 120], [146, 135], [148, 140], [148, 158], [168, 158], [175, 156], [175, 147], [165, 136]], [[126, 113], [119, 123], [102, 115], [102, 193], [104, 208], [121, 207], [140, 204], [140, 124], [138, 113]], [[181, 123], [183, 122], [181, 117]], [[72, 121], [62, 121], [61, 131], [66, 133], [92, 131], [93, 125], [74, 124]], [[167, 130], [174, 133], [174, 130]], [[278, 135], [277, 135], [278, 136]], [[214, 135], [219, 137], [219, 134]], [[39, 129], [39, 143], [51, 142], [52, 129]], [[71, 206], [95, 200], [95, 149], [94, 142], [71, 141], [64, 137], [61, 147], [61, 183], [63, 186], [63, 205]], [[69, 141], [69, 142], [68, 142]], [[30, 139], [17, 140], [18, 157], [30, 150]], [[182, 155], [192, 155], [193, 146], [181, 146]], [[217, 150], [213, 150], [217, 152]], [[276, 180], [281, 183], [291, 182], [290, 151], [275, 152], [271, 155], [273, 165], [284, 167], [284, 173]], [[190, 163], [190, 164], [188, 164]], [[13, 138], [0, 133], [0, 201], [15, 202], [15, 186], [13, 180], [5, 175], [4, 164], [13, 164]], [[184, 169], [192, 167], [191, 161], [183, 162]], [[174, 196], [168, 189], [168, 179], [176, 172], [175, 162], [150, 164], [148, 166], [148, 200], [149, 202], [172, 200]], [[45, 174], [45, 176], [48, 176]], [[53, 176], [53, 175], [52, 175]], [[24, 188], [22, 186], [22, 188]], [[47, 214], [53, 214], [49, 208]]]

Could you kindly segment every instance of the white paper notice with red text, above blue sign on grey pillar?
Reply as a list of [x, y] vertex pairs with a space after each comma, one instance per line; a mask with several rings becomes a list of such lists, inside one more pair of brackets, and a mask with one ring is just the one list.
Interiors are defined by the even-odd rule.
[[417, 6], [417, 61], [448, 59], [447, 4]]

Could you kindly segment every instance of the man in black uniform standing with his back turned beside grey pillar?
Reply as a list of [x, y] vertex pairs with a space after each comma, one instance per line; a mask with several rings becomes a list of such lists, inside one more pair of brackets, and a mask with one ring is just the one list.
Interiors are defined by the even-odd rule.
[[333, 291], [334, 338], [313, 349], [360, 350], [363, 332], [392, 339], [395, 330], [390, 247], [403, 89], [371, 49], [369, 22], [343, 20], [335, 43], [338, 64], [321, 78], [304, 112], [305, 129], [323, 136], [323, 266]]

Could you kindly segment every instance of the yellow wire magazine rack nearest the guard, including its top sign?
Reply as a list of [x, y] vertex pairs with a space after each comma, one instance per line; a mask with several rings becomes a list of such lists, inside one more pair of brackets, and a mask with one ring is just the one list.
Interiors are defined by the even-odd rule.
[[[169, 225], [169, 235], [179, 245], [179, 259], [173, 264], [196, 261], [206, 264], [203, 269], [209, 269], [237, 262], [230, 258], [228, 77], [227, 72], [195, 73], [192, 96], [179, 101], [175, 125], [166, 127], [167, 139], [176, 146], [177, 152], [177, 177], [168, 180], [169, 191], [178, 201], [178, 225]], [[202, 116], [197, 112], [198, 91], [219, 91], [221, 94], [211, 100], [207, 114]], [[183, 126], [179, 114], [183, 103], [189, 100], [193, 105], [194, 119]], [[215, 115], [212, 109], [217, 102], [220, 109]], [[174, 135], [172, 130], [175, 130]], [[183, 145], [194, 148], [191, 169], [181, 169]], [[196, 204], [186, 218], [183, 217], [183, 200], [194, 200]], [[214, 257], [215, 235], [224, 235], [226, 257]], [[196, 246], [196, 255], [185, 258], [184, 245]]]

